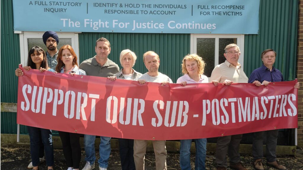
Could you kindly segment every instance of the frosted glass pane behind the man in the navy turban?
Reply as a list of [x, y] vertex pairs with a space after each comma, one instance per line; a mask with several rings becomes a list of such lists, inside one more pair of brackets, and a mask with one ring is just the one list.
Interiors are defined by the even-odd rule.
[[[43, 39], [42, 38], [28, 38], [27, 39], [28, 42], [28, 51], [35, 46], [39, 46], [41, 48], [43, 48], [43, 50], [46, 52], [47, 48], [46, 45], [43, 43]], [[59, 43], [57, 45], [58, 50], [63, 46], [63, 45], [72, 45], [72, 39], [71, 38], [60, 38], [59, 39]]]

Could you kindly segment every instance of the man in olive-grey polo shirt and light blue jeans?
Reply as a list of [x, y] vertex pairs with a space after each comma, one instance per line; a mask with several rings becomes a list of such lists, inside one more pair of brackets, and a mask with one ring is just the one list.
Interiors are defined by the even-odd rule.
[[[86, 72], [86, 75], [109, 77], [119, 72], [119, 66], [108, 59], [108, 54], [111, 52], [111, 45], [106, 38], [99, 38], [96, 41], [95, 51], [95, 57], [87, 59], [80, 64], [80, 68]], [[86, 165], [82, 170], [92, 170], [95, 168], [95, 139], [96, 136], [94, 135], [84, 135]], [[100, 136], [100, 140], [99, 170], [107, 170], [108, 159], [111, 153], [111, 137]]]

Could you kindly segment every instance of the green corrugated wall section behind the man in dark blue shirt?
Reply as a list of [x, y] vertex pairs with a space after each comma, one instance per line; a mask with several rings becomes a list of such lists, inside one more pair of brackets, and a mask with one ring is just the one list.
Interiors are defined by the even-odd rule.
[[284, 80], [296, 78], [298, 0], [261, 0], [259, 34], [245, 35], [244, 71], [247, 76], [262, 65], [261, 52], [277, 52], [274, 67]]

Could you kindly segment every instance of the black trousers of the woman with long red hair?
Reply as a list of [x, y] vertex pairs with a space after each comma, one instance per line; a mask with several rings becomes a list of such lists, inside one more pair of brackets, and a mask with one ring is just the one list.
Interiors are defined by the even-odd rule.
[[58, 132], [62, 141], [63, 154], [67, 166], [78, 169], [81, 159], [80, 134]]

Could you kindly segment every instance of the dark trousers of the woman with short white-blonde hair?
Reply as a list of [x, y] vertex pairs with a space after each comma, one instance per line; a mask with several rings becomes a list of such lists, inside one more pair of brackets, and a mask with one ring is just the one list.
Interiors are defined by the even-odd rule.
[[135, 170], [134, 139], [120, 139], [119, 151], [122, 170]]

